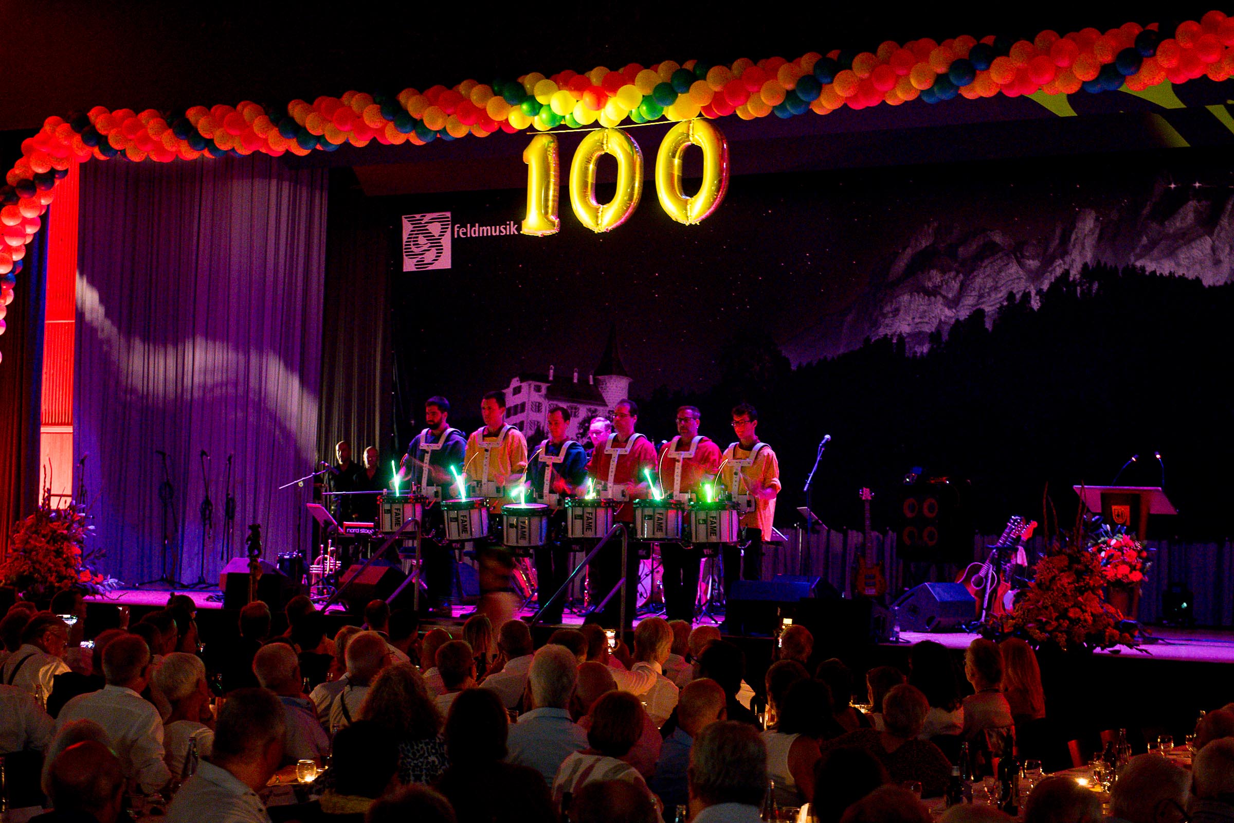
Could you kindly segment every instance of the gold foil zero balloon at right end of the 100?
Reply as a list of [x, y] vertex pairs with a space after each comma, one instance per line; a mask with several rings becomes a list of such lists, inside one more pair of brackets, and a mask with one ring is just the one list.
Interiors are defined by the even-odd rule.
[[[690, 146], [702, 149], [702, 186], [692, 197], [681, 191], [681, 159]], [[679, 223], [702, 222], [728, 189], [728, 141], [706, 120], [686, 120], [664, 136], [655, 155], [655, 192], [660, 207]]]

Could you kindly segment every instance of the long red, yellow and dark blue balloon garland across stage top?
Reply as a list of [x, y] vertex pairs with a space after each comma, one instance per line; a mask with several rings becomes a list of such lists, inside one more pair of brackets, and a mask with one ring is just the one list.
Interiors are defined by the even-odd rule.
[[[1060, 36], [1046, 30], [1032, 41], [967, 35], [942, 43], [886, 41], [874, 52], [811, 52], [795, 60], [742, 58], [732, 65], [664, 60], [650, 68], [631, 63], [584, 74], [532, 72], [517, 80], [464, 80], [424, 91], [347, 91], [311, 104], [292, 100], [285, 110], [269, 112], [252, 101], [173, 114], [95, 106], [69, 120], [48, 117], [37, 134], [22, 142], [22, 157], [0, 188], [0, 334], [26, 244], [41, 227], [56, 181], [74, 160], [121, 153], [133, 162], [158, 163], [254, 152], [305, 155], [344, 143], [422, 146], [437, 138], [487, 137], [497, 130], [545, 132], [596, 123], [613, 128], [627, 120], [680, 122], [734, 114], [742, 120], [807, 111], [827, 115], [844, 106], [898, 106], [918, 97], [933, 104], [1038, 91], [1143, 91], [1166, 80], [1180, 84], [1199, 77], [1218, 81], [1234, 77], [1234, 19], [1220, 11], [1180, 23], [1174, 37], [1162, 37], [1156, 23], [1129, 22], [1104, 33], [1083, 28]], [[596, 220], [611, 221], [613, 215], [597, 211]]]

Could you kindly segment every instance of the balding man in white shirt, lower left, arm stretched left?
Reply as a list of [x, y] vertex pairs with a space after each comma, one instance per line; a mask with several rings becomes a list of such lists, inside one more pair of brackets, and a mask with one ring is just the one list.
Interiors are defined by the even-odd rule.
[[126, 634], [107, 644], [102, 653], [102, 691], [74, 697], [57, 718], [88, 719], [101, 726], [120, 758], [127, 780], [137, 781], [142, 791], [153, 793], [163, 787], [172, 772], [163, 760], [163, 718], [154, 705], [141, 696], [149, 682], [151, 653], [146, 640]]

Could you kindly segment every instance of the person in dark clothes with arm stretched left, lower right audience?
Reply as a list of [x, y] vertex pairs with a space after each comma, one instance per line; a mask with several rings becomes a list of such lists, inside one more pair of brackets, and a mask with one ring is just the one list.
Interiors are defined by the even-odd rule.
[[951, 764], [938, 746], [921, 739], [922, 724], [929, 705], [916, 686], [896, 686], [882, 698], [884, 732], [858, 729], [824, 743], [826, 753], [832, 748], [855, 745], [882, 761], [892, 782], [916, 780], [922, 785], [924, 797], [942, 795], [951, 776]]

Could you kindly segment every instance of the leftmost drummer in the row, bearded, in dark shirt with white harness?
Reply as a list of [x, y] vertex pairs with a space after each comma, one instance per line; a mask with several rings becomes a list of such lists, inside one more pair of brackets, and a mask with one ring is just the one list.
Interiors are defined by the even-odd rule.
[[[429, 397], [424, 402], [426, 428], [411, 438], [407, 453], [402, 455], [399, 473], [394, 476], [395, 489], [411, 480], [415, 494], [424, 495], [431, 501], [450, 497], [449, 485], [453, 473], [463, 470], [463, 458], [466, 453], [466, 438], [463, 432], [449, 424], [450, 402], [445, 397]], [[423, 556], [424, 589], [429, 606], [439, 611], [449, 611], [447, 598], [450, 593], [450, 580], [454, 576], [454, 548], [443, 540], [428, 537], [441, 534], [445, 529], [441, 506], [424, 506], [424, 523], [421, 540]]]

